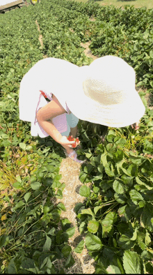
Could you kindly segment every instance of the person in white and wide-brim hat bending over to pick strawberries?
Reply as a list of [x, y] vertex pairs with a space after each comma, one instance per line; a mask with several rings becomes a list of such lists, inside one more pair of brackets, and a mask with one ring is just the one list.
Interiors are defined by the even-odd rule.
[[77, 135], [79, 119], [116, 128], [135, 123], [138, 127], [145, 106], [135, 90], [135, 77], [134, 69], [119, 57], [100, 57], [82, 67], [42, 59], [22, 79], [19, 119], [31, 121], [31, 135], [50, 135], [67, 156], [82, 163], [72, 149], [74, 142], [66, 137]]

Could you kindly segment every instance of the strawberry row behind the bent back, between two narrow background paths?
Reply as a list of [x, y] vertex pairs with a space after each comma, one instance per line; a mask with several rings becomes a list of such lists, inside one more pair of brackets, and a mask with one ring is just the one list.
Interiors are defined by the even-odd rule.
[[[79, 25], [81, 24], [79, 33], [82, 36], [83, 29], [84, 32], [87, 29], [86, 21], [88, 17], [83, 18], [81, 13], [68, 10], [63, 6], [52, 3], [52, 1], [41, 2], [41, 6], [37, 6], [35, 18], [37, 18], [40, 26], [44, 54], [47, 54], [49, 57], [71, 61], [78, 66], [90, 64], [91, 59], [88, 59], [83, 53], [83, 47], [80, 45], [80, 36], [72, 24], [78, 16], [76, 28], [79, 29]], [[70, 26], [72, 29], [70, 29]]]

